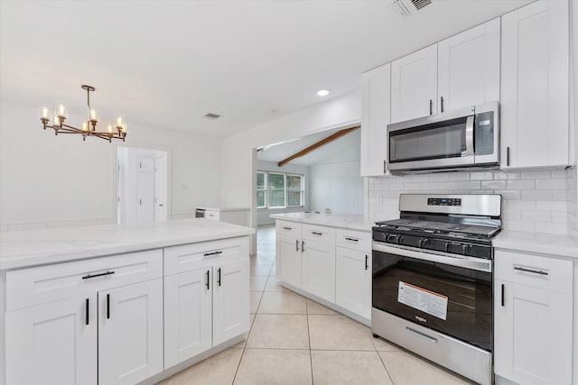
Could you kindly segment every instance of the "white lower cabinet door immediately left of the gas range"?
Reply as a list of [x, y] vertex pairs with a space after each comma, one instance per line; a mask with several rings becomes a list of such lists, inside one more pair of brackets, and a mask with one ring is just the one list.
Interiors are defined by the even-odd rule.
[[371, 252], [335, 248], [335, 303], [371, 319]]

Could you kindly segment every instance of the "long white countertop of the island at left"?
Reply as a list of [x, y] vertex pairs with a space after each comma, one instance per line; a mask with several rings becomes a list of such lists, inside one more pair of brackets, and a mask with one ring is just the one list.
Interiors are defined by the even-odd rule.
[[204, 218], [146, 225], [95, 225], [0, 234], [0, 270], [74, 261], [255, 233]]

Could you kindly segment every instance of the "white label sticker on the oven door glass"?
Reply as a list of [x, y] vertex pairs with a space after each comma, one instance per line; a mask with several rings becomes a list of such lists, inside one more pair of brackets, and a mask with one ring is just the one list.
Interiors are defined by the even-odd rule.
[[437, 316], [445, 321], [448, 314], [448, 298], [433, 291], [418, 288], [409, 283], [399, 281], [397, 301], [414, 307], [424, 313]]

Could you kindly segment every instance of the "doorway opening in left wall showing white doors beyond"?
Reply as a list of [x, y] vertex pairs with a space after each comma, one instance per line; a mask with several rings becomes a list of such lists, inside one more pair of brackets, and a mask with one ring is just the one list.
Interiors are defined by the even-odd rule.
[[117, 224], [167, 219], [168, 152], [117, 147]]

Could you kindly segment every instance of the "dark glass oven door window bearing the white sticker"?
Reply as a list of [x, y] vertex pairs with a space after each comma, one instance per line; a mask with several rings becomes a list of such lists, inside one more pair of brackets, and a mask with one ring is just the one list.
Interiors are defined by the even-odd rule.
[[491, 351], [490, 272], [374, 251], [372, 306]]

